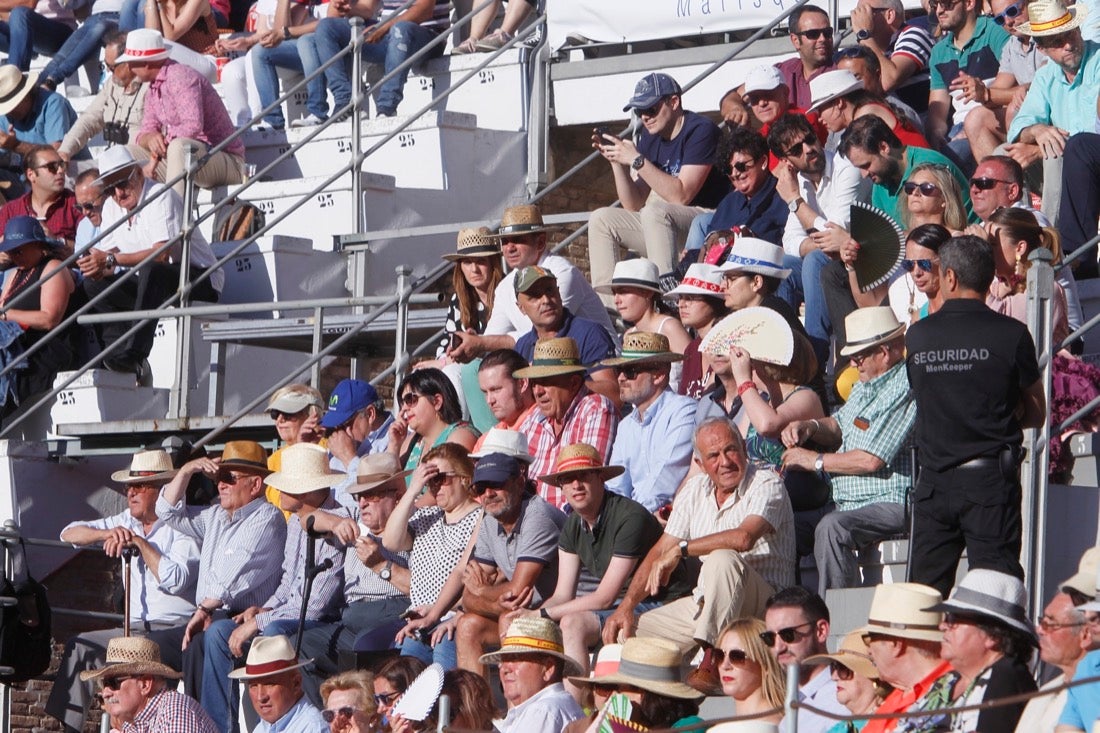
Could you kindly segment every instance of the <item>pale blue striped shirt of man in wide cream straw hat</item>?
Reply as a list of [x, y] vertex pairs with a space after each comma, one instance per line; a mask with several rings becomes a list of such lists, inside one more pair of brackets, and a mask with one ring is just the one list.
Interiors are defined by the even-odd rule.
[[[326, 512], [340, 508], [330, 495], [321, 504]], [[290, 517], [286, 525], [286, 543], [283, 546], [283, 578], [272, 597], [261, 605], [271, 611], [256, 614], [256, 627], [263, 632], [273, 621], [296, 620], [301, 613], [301, 590], [306, 580], [306, 550], [308, 535], [297, 517]], [[317, 565], [326, 560], [332, 567], [314, 578], [314, 586], [306, 603], [306, 621], [333, 621], [340, 616], [343, 605], [343, 561], [344, 553], [331, 539], [322, 539], [315, 545]]]

